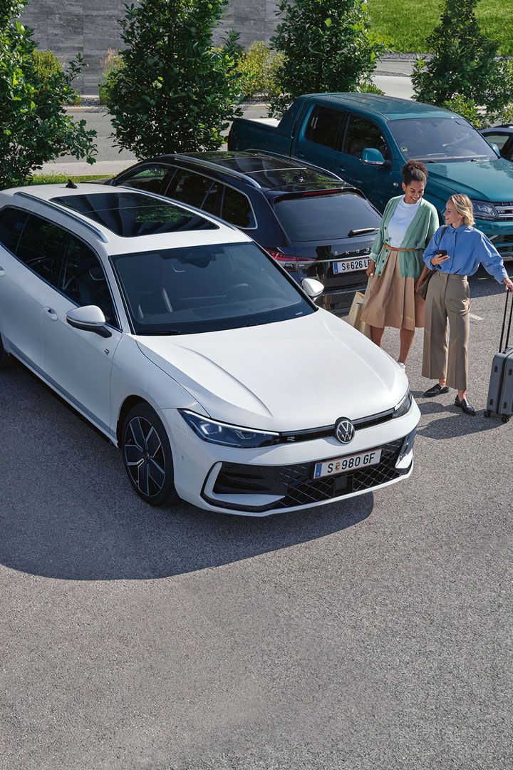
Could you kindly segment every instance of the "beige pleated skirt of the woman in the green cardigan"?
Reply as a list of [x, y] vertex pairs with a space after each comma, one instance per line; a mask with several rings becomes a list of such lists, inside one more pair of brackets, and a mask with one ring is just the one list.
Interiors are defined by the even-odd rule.
[[370, 326], [415, 330], [424, 326], [425, 300], [415, 294], [415, 278], [399, 273], [399, 253], [391, 251], [381, 276], [372, 276], [361, 320]]

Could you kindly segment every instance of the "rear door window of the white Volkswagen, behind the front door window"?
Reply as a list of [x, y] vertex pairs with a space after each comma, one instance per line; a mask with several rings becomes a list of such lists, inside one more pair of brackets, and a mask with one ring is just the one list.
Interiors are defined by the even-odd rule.
[[16, 256], [39, 276], [58, 285], [68, 232], [35, 214], [28, 216], [16, 248]]

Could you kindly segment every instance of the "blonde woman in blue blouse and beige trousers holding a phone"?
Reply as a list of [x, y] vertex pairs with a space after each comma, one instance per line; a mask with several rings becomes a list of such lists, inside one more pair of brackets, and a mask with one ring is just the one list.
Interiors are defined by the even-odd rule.
[[[501, 255], [491, 241], [475, 229], [474, 210], [466, 195], [452, 195], [445, 206], [445, 226], [428, 243], [425, 264], [434, 270], [425, 305], [422, 375], [437, 379], [424, 395], [428, 398], [458, 390], [455, 406], [475, 415], [467, 400], [470, 301], [467, 276], [481, 264], [506, 291], [513, 291]], [[446, 330], [449, 322], [449, 345]]]

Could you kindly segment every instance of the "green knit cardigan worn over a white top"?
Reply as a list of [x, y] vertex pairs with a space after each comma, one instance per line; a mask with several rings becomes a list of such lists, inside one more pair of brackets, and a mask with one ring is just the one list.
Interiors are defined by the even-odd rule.
[[[390, 249], [385, 246], [385, 243], [390, 243], [388, 240], [388, 224], [390, 223], [392, 216], [394, 216], [399, 201], [403, 198], [404, 196], [400, 195], [396, 198], [391, 198], [388, 201], [385, 206], [385, 211], [383, 212], [383, 219], [381, 219], [378, 235], [376, 236], [375, 242], [372, 244], [369, 256], [371, 259], [374, 259], [376, 263], [375, 274], [377, 276], [380, 276], [385, 269], [388, 254], [390, 253]], [[435, 209], [435, 206], [424, 198], [421, 198], [418, 212], [412, 219], [401, 243], [403, 249], [415, 249], [415, 251], [399, 252], [399, 273], [402, 278], [415, 278], [416, 280], [418, 276], [420, 276], [422, 268], [424, 267], [424, 249], [439, 226], [438, 212]]]

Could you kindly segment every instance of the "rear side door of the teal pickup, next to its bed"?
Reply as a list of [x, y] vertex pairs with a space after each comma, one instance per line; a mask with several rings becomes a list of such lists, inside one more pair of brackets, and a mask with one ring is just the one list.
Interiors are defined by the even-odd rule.
[[292, 143], [291, 155], [333, 171], [347, 121], [345, 110], [311, 105]]

